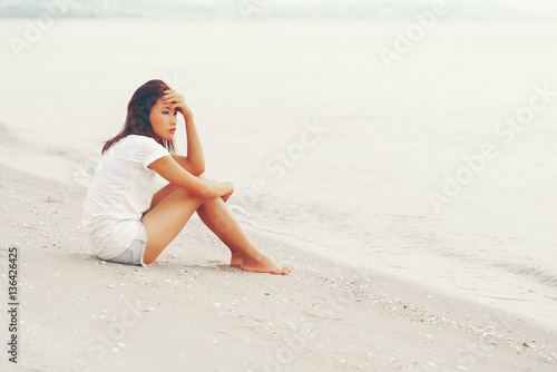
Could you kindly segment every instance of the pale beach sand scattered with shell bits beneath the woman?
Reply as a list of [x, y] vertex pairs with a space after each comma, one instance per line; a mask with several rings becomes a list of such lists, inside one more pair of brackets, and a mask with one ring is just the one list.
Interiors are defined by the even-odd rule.
[[9, 247], [20, 283], [18, 364], [2, 310], [1, 371], [557, 371], [555, 330], [252, 231], [292, 275], [227, 266], [195, 218], [150, 267], [105, 263], [82, 188], [0, 172], [4, 306]]

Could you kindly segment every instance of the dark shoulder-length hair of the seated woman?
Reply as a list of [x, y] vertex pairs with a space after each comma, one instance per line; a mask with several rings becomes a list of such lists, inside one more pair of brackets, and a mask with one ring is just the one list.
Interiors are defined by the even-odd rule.
[[164, 96], [164, 91], [170, 89], [163, 80], [149, 80], [137, 88], [128, 104], [128, 115], [120, 133], [110, 138], [102, 146], [101, 154], [105, 154], [113, 145], [129, 135], [139, 135], [154, 138], [157, 143], [166, 147], [169, 153], [174, 153], [174, 139], [166, 140], [157, 138], [150, 124], [150, 109], [157, 100]]

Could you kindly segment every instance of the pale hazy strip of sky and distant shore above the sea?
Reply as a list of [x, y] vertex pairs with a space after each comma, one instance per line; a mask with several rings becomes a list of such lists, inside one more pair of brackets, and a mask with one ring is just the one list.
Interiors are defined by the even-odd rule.
[[[434, 1], [410, 0], [329, 0], [310, 4], [287, 1], [209, 1], [190, 0], [29, 0], [25, 4], [0, 1], [0, 18], [41, 17], [50, 13], [60, 18], [184, 18], [184, 19], [361, 19], [399, 20], [412, 19], [417, 13], [432, 11]], [[448, 10], [444, 19], [465, 20], [555, 20], [554, 4], [534, 2], [531, 7], [507, 4], [497, 0], [440, 1]], [[543, 10], [540, 10], [543, 9]]]

